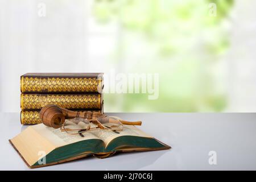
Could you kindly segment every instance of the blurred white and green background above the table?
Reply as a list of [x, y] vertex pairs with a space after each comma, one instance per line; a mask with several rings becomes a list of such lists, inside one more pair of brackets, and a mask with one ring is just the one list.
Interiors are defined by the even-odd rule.
[[[105, 112], [255, 112], [255, 7], [255, 0], [2, 0], [0, 111], [20, 110], [24, 73], [103, 72]], [[135, 73], [158, 74], [158, 99], [106, 92]]]

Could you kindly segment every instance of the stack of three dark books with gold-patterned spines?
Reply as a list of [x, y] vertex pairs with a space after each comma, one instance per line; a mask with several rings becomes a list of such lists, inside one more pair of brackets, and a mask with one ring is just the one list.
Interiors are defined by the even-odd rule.
[[20, 76], [20, 122], [41, 123], [40, 109], [48, 104], [103, 113], [103, 88], [102, 73], [26, 73]]

